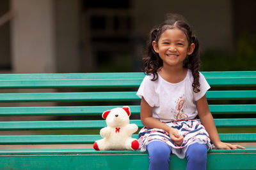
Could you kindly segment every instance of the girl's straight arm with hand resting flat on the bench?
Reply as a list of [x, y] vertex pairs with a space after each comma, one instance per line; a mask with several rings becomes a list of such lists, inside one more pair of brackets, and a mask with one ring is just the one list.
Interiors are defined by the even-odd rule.
[[216, 125], [212, 118], [211, 111], [209, 110], [209, 106], [207, 103], [206, 96], [202, 97], [198, 101], [196, 101], [196, 108], [198, 111], [198, 115], [200, 121], [204, 125], [206, 131], [209, 133], [210, 139], [216, 148], [222, 150], [236, 150], [237, 148], [244, 149], [243, 146], [240, 145], [231, 145], [230, 143], [223, 143], [220, 141], [220, 137], [218, 131], [216, 129]]

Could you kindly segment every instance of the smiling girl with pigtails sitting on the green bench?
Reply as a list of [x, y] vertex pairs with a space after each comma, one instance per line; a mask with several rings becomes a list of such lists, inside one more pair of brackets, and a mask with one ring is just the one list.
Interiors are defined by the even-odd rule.
[[168, 15], [150, 32], [143, 58], [147, 76], [137, 92], [145, 126], [139, 133], [140, 149], [148, 150], [149, 169], [169, 169], [170, 153], [186, 156], [187, 169], [206, 169], [213, 145], [243, 148], [220, 141], [205, 97], [210, 86], [198, 71], [199, 54], [198, 39], [180, 15]]

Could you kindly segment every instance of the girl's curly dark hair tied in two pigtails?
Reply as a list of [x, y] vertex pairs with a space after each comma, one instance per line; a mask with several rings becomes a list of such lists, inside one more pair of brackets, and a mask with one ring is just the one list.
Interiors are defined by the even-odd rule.
[[147, 41], [146, 55], [143, 57], [143, 72], [146, 74], [153, 74], [152, 81], [156, 81], [158, 78], [157, 71], [163, 66], [163, 60], [159, 57], [159, 54], [155, 52], [152, 42], [156, 41], [158, 44], [161, 34], [167, 29], [178, 28], [182, 30], [188, 39], [189, 46], [191, 43], [195, 44], [195, 49], [191, 55], [188, 55], [184, 60], [184, 67], [191, 70], [194, 81], [192, 84], [194, 92], [200, 92], [199, 83], [199, 68], [200, 68], [200, 45], [198, 38], [193, 35], [191, 26], [182, 15], [168, 14], [167, 19], [163, 24], [154, 27], [150, 31], [150, 35]]

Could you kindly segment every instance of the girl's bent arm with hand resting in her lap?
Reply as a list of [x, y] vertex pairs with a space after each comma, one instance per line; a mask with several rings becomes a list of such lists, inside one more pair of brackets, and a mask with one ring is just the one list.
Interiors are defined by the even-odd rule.
[[177, 145], [181, 145], [183, 142], [183, 136], [180, 136], [176, 129], [169, 127], [168, 125], [160, 122], [156, 118], [152, 117], [152, 107], [149, 106], [147, 101], [142, 97], [140, 106], [140, 118], [145, 127], [163, 129], [170, 134], [170, 139]]

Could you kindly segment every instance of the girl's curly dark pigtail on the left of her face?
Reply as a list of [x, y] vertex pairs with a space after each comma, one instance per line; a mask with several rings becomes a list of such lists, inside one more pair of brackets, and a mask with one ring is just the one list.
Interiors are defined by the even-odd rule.
[[159, 54], [155, 52], [152, 42], [156, 41], [158, 28], [155, 27], [150, 32], [147, 42], [147, 55], [143, 57], [143, 72], [146, 74], [153, 74], [152, 81], [156, 81], [158, 78], [157, 70], [163, 66], [163, 60], [159, 57]]

